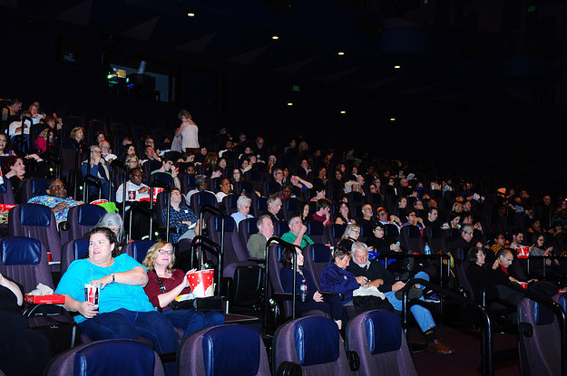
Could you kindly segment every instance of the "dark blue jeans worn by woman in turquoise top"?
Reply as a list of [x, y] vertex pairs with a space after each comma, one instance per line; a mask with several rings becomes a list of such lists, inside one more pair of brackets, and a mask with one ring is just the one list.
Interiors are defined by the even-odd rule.
[[[119, 309], [99, 313], [92, 319], [79, 323], [81, 331], [93, 341], [111, 339], [138, 340], [138, 336], [150, 340], [158, 353], [177, 351], [177, 333], [171, 322], [157, 311], [135, 312]], [[175, 362], [163, 364], [167, 375], [175, 374]]]

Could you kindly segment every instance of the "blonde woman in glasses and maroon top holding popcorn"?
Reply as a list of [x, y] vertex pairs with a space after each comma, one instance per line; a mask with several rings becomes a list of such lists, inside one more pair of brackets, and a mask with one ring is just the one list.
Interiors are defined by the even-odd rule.
[[174, 264], [175, 253], [171, 243], [159, 242], [148, 249], [142, 265], [148, 269], [148, 284], [143, 290], [150, 303], [174, 326], [185, 329], [183, 338], [209, 326], [224, 324], [224, 315], [218, 311], [202, 313], [191, 309], [171, 309], [170, 304], [177, 296], [191, 293], [189, 279], [182, 270], [173, 269]]

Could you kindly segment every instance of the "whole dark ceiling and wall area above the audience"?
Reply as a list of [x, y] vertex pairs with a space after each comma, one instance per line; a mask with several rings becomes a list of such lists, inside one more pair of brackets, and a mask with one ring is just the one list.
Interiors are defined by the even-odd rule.
[[[202, 137], [221, 126], [272, 144], [304, 137], [564, 195], [564, 10], [529, 0], [0, 0], [0, 87], [64, 117], [172, 130], [187, 109]], [[109, 92], [109, 63], [142, 60], [174, 78], [171, 102]]]

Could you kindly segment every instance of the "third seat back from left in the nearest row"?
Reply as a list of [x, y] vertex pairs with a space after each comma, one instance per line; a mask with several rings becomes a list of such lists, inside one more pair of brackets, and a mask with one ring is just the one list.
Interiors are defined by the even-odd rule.
[[337, 323], [322, 316], [305, 316], [284, 323], [274, 333], [273, 374], [282, 362], [294, 362], [304, 376], [352, 375]]

